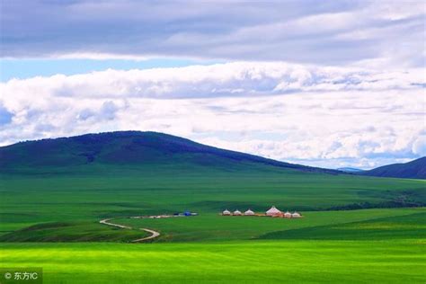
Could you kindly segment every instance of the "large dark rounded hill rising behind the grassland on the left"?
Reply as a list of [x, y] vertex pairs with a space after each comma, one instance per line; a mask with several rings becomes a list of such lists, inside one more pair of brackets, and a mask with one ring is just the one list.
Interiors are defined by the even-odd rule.
[[[269, 166], [305, 172], [339, 171], [288, 164], [256, 155], [206, 146], [189, 139], [157, 132], [120, 131], [71, 138], [27, 141], [0, 147], [0, 172], [42, 171], [44, 168], [96, 165], [145, 165], [156, 167], [205, 166], [225, 169]], [[91, 165], [93, 165], [91, 167]]]

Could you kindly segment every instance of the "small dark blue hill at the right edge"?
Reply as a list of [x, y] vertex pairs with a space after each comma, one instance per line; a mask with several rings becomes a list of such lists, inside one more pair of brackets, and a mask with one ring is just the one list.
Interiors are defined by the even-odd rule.
[[426, 156], [404, 164], [388, 164], [359, 174], [395, 178], [426, 179]]

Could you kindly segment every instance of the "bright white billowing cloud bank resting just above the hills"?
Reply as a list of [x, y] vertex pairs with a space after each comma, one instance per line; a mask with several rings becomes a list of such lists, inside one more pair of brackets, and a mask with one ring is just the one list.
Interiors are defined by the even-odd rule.
[[0, 144], [155, 130], [319, 166], [426, 155], [424, 69], [281, 62], [106, 70], [0, 84]]

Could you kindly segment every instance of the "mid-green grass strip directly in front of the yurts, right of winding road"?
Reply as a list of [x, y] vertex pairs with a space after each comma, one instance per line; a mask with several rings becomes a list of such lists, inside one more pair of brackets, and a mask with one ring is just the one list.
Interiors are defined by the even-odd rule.
[[[204, 213], [197, 217], [164, 219], [118, 218], [115, 222], [132, 227], [148, 227], [161, 232], [157, 242], [206, 242], [226, 240], [248, 240], [274, 232], [285, 232], [299, 228], [336, 226], [382, 217], [404, 217], [426, 209], [363, 209], [350, 211], [308, 211], [304, 218], [287, 219], [272, 217], [223, 217]], [[425, 213], [422, 213], [425, 214]], [[413, 223], [416, 221], [413, 220]], [[315, 230], [315, 229], [313, 229]], [[277, 234], [279, 234], [277, 233]], [[314, 233], [312, 233], [314, 234]], [[315, 234], [314, 234], [315, 235]], [[409, 235], [409, 232], [407, 233]], [[426, 236], [426, 233], [423, 234]]]

